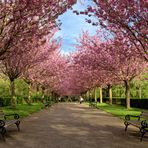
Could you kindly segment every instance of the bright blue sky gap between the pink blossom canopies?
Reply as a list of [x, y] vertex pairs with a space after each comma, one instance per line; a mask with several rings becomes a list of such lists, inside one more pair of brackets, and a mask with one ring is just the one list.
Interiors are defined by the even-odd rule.
[[[74, 10], [85, 10], [87, 5], [93, 5], [91, 0], [78, 1], [73, 6]], [[64, 14], [59, 16], [59, 20], [62, 22], [61, 30], [59, 30], [55, 37], [61, 37], [63, 39], [62, 50], [63, 54], [67, 54], [74, 51], [73, 45], [76, 44], [76, 38], [79, 37], [82, 31], [88, 30], [91, 35], [94, 35], [98, 26], [92, 26], [85, 21], [86, 16], [76, 15], [73, 10], [67, 10]]]

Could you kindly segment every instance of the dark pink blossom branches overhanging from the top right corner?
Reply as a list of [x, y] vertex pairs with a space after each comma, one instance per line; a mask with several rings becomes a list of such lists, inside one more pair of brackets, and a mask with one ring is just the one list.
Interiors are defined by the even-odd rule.
[[123, 34], [123, 39], [128, 38], [135, 46], [138, 53], [147, 61], [148, 60], [148, 16], [147, 5], [145, 0], [94, 0], [94, 6], [89, 6], [85, 13], [89, 16], [95, 16], [97, 23], [88, 20], [92, 24], [100, 24], [112, 32], [115, 36], [118, 33]]

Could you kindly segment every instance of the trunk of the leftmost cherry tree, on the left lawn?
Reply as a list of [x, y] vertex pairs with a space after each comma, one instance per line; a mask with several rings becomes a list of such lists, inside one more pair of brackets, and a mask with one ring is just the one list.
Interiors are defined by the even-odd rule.
[[16, 95], [15, 95], [15, 81], [10, 80], [10, 95], [11, 95], [11, 106], [16, 107]]

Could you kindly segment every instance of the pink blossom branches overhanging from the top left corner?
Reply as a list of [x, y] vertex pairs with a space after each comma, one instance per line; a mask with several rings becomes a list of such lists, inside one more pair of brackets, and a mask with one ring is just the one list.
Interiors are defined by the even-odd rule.
[[25, 36], [41, 39], [75, 0], [0, 0], [0, 59]]

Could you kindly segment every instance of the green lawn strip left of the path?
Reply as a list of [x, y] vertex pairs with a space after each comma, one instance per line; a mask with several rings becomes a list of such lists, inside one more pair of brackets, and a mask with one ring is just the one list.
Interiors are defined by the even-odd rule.
[[42, 103], [33, 103], [32, 105], [28, 104], [19, 104], [16, 108], [12, 108], [10, 106], [3, 107], [2, 110], [5, 114], [17, 113], [20, 118], [29, 116], [30, 114], [41, 110], [44, 107]]

